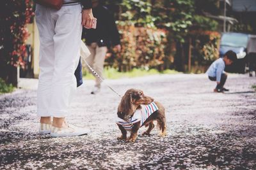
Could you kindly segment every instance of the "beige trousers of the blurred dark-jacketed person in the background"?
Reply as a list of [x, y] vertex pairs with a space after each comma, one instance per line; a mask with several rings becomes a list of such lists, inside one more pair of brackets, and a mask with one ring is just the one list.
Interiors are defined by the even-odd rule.
[[[106, 46], [99, 47], [97, 43], [92, 43], [90, 46], [87, 47], [90, 50], [91, 55], [89, 55], [89, 57], [86, 58], [86, 61], [99, 74], [99, 76], [102, 77], [104, 69], [104, 60], [106, 57], [106, 53], [108, 52], [108, 48]], [[90, 71], [90, 69], [88, 70]], [[99, 78], [95, 78], [95, 86], [100, 87], [101, 81], [99, 80]]]

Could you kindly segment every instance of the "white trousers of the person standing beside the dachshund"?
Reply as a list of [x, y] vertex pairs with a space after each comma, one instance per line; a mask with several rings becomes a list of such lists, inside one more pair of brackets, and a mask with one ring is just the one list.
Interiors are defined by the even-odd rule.
[[60, 10], [36, 4], [36, 24], [40, 36], [37, 113], [40, 117], [66, 117], [76, 92], [74, 72], [79, 62], [82, 15], [81, 4]]

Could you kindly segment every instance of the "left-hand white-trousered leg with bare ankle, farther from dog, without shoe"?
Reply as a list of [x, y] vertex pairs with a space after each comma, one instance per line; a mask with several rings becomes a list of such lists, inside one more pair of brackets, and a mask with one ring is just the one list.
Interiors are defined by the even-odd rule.
[[49, 106], [51, 101], [52, 72], [54, 71], [54, 24], [47, 8], [40, 4], [36, 4], [35, 15], [40, 36], [37, 115], [40, 117], [40, 123], [51, 124]]

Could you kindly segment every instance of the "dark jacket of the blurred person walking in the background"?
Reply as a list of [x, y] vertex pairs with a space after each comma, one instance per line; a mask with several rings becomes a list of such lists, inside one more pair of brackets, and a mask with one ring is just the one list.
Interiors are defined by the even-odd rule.
[[83, 29], [82, 38], [86, 45], [97, 43], [100, 46], [115, 46], [120, 44], [120, 36], [113, 15], [105, 6], [92, 8], [93, 17], [97, 18], [96, 29]]

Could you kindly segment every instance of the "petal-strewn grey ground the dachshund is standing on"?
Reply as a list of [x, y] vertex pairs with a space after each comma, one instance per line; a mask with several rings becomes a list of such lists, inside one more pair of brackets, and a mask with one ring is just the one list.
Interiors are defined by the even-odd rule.
[[141, 89], [166, 108], [168, 135], [116, 140], [120, 98], [93, 81], [77, 90], [68, 122], [88, 127], [88, 136], [37, 134], [36, 90], [0, 96], [0, 169], [256, 169], [256, 78], [228, 75], [227, 94], [213, 93], [204, 74], [156, 75], [106, 80], [120, 94]]

